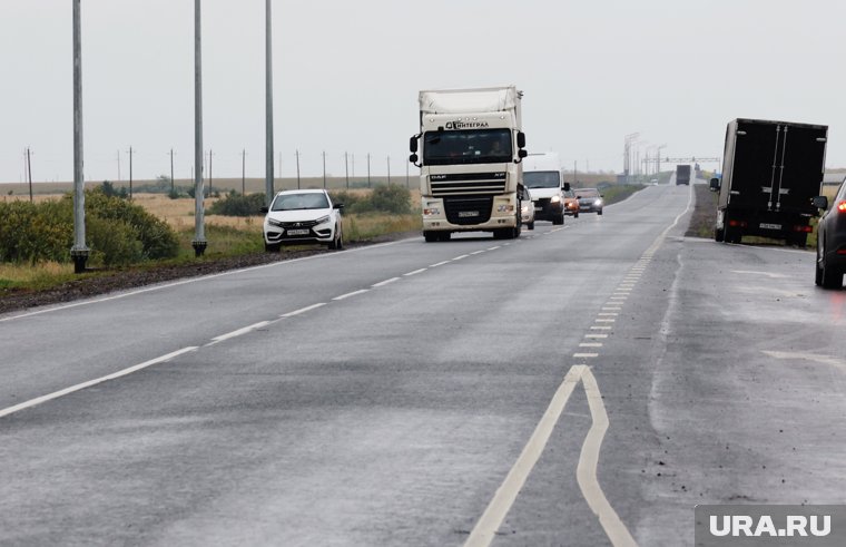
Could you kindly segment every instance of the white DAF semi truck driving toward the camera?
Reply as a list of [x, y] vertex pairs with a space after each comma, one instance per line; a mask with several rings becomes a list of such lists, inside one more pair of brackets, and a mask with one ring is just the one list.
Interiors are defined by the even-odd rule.
[[420, 91], [420, 133], [410, 162], [421, 168], [423, 235], [453, 232], [520, 235], [523, 182], [520, 101], [514, 86]]

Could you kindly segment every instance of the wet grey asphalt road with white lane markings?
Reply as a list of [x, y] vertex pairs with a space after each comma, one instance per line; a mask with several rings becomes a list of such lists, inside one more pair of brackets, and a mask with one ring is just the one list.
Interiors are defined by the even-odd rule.
[[843, 504], [846, 292], [689, 187], [0, 315], [0, 545], [692, 545]]

